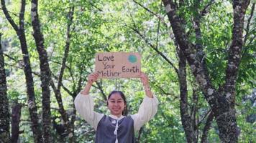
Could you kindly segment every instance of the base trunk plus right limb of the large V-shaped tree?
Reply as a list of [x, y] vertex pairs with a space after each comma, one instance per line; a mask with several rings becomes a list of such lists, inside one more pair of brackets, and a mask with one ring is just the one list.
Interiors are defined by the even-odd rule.
[[234, 25], [232, 32], [232, 45], [229, 48], [228, 63], [226, 69], [226, 82], [224, 84], [224, 94], [219, 96], [219, 105], [216, 107], [215, 119], [219, 127], [219, 136], [222, 142], [237, 142], [237, 119], [235, 116], [235, 86], [241, 60], [244, 14], [249, 5], [249, 0], [234, 0], [233, 15]]

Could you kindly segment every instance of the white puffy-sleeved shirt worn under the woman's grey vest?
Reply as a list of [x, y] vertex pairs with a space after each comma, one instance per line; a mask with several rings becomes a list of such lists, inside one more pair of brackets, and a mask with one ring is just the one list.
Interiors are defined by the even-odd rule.
[[[154, 96], [153, 98], [145, 97], [143, 99], [142, 104], [140, 104], [139, 112], [137, 114], [132, 114], [131, 117], [134, 120], [134, 130], [140, 130], [140, 127], [143, 126], [146, 122], [150, 121], [152, 117], [157, 113], [157, 104], [158, 100]], [[91, 95], [83, 95], [78, 94], [75, 99], [75, 107], [79, 114], [91, 124], [91, 126], [96, 130], [97, 126], [104, 114], [94, 112], [94, 102]], [[114, 115], [110, 115], [111, 118], [114, 119], [122, 119], [124, 116], [116, 117]]]

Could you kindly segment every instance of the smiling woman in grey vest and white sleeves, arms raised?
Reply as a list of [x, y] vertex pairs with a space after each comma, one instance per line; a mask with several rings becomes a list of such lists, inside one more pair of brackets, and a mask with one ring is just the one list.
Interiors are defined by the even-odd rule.
[[89, 90], [97, 79], [96, 73], [88, 76], [86, 87], [76, 96], [76, 110], [96, 130], [96, 143], [134, 143], [134, 131], [140, 130], [157, 112], [158, 100], [150, 91], [147, 75], [143, 72], [140, 74], [146, 97], [139, 112], [129, 116], [124, 116], [127, 102], [124, 94], [119, 91], [111, 92], [106, 101], [111, 113], [109, 116], [93, 111], [94, 102]]

